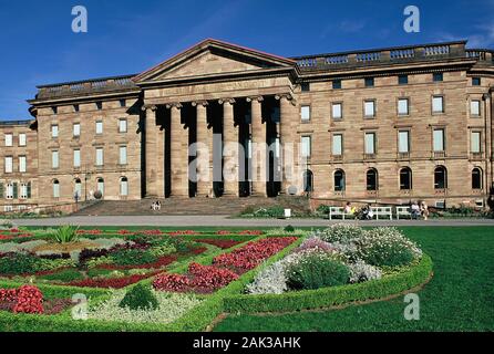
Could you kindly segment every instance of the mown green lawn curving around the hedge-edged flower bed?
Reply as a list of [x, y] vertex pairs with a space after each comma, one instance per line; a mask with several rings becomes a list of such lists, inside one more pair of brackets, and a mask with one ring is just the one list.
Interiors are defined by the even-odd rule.
[[402, 229], [434, 262], [434, 278], [418, 292], [419, 321], [404, 320], [399, 296], [342, 310], [230, 315], [215, 331], [494, 331], [493, 228]]

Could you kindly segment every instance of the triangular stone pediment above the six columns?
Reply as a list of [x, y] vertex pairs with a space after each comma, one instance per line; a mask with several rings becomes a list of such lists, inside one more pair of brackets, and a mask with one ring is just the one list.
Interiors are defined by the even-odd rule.
[[217, 40], [206, 40], [137, 75], [134, 81], [138, 84], [282, 67], [295, 67], [295, 62]]

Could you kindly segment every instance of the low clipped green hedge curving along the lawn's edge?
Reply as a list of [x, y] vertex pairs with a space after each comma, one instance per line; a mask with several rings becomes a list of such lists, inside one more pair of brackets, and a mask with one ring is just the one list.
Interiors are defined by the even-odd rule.
[[369, 282], [331, 287], [317, 290], [287, 292], [285, 294], [247, 295], [224, 298], [225, 312], [291, 312], [341, 305], [354, 301], [377, 300], [421, 285], [432, 274], [432, 260], [423, 254], [418, 266], [397, 274]]

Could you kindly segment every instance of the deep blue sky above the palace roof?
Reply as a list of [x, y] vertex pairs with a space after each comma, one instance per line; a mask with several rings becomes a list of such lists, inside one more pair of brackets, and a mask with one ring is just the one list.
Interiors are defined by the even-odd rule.
[[[421, 32], [403, 31], [403, 10]], [[72, 7], [89, 12], [73, 33]], [[467, 39], [494, 48], [494, 0], [0, 0], [0, 119], [24, 119], [35, 86], [142, 72], [205, 38], [278, 55]]]

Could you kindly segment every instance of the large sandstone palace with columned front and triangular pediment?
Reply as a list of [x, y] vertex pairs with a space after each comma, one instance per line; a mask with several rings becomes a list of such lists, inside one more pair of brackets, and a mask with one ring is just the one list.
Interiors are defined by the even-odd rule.
[[483, 206], [494, 51], [465, 45], [281, 58], [208, 39], [140, 74], [38, 86], [33, 119], [0, 122], [0, 211], [75, 195]]

